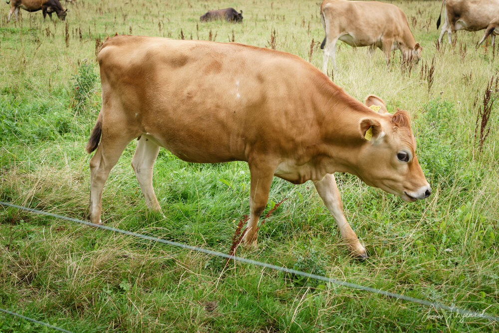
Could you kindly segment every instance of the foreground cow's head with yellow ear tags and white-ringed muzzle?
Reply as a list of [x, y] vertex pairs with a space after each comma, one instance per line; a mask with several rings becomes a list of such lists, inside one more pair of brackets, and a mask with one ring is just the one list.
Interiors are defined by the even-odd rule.
[[374, 95], [368, 96], [365, 104], [379, 107], [381, 117], [372, 111], [373, 117], [360, 120], [364, 144], [357, 161], [359, 178], [405, 201], [428, 197], [431, 188], [416, 157], [416, 139], [407, 111], [397, 109], [390, 114], [383, 100]]

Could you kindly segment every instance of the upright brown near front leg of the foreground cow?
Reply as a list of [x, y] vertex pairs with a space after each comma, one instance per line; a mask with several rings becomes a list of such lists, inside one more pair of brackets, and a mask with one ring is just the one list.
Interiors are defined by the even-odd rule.
[[[258, 158], [256, 158], [258, 159]], [[244, 242], [248, 246], [256, 245], [258, 235], [256, 234], [258, 219], [267, 206], [268, 191], [274, 176], [275, 167], [272, 167], [261, 158], [249, 162], [250, 165], [250, 219], [244, 236]]]

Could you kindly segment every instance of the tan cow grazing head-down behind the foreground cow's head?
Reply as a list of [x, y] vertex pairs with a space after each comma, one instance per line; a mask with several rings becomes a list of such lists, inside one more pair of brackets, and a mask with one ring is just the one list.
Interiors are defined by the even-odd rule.
[[329, 57], [336, 67], [336, 41], [348, 45], [376, 47], [385, 52], [399, 49], [406, 59], [418, 61], [423, 48], [416, 42], [404, 12], [394, 4], [378, 1], [324, 0], [320, 5], [320, 19], [326, 36], [320, 45], [324, 49], [322, 71], [327, 70]]

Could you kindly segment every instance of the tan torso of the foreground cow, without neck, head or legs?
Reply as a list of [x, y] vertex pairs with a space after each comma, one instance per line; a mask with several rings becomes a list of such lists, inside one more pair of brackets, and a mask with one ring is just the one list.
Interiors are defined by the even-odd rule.
[[111, 37], [99, 64], [103, 106], [195, 162], [246, 160], [258, 145], [292, 150], [314, 118], [306, 90], [327, 80], [289, 53], [159, 37]]

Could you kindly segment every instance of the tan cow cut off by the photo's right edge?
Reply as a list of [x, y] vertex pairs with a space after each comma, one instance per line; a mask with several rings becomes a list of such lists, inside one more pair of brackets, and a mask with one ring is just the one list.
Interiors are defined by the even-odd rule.
[[452, 32], [462, 29], [467, 31], [486, 29], [478, 45], [482, 44], [489, 35], [492, 35], [492, 45], [496, 45], [496, 35], [499, 34], [499, 0], [442, 0], [437, 29], [440, 26], [444, 5], [444, 24], [438, 37], [440, 43], [446, 32], [450, 44]]

